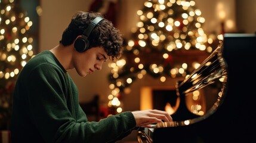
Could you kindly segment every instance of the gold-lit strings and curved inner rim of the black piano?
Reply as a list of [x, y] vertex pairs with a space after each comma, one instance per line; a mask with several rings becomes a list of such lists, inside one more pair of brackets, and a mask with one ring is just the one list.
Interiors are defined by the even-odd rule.
[[[190, 76], [188, 76], [186, 79], [184, 79], [181, 83], [177, 83], [177, 94], [180, 97], [180, 110], [176, 111], [172, 115], [172, 118], [175, 120], [174, 122], [163, 122], [158, 123], [155, 126], [152, 126], [152, 128], [163, 128], [163, 127], [173, 127], [173, 126], [185, 126], [190, 125], [192, 123], [199, 122], [206, 117], [210, 116], [212, 113], [214, 113], [219, 105], [224, 101], [225, 97], [225, 91], [226, 91], [226, 83], [227, 83], [227, 64], [223, 58], [223, 41], [220, 41], [220, 44], [215, 49], [214, 52], [212, 52], [211, 55], [209, 55], [208, 58], [206, 58], [201, 66], [198, 67], [195, 71], [193, 71]], [[211, 88], [205, 88], [206, 86], [211, 86]], [[186, 111], [181, 110], [181, 106], [185, 106], [184, 97], [188, 94], [192, 94], [192, 92], [195, 91], [201, 91], [200, 92], [206, 92], [202, 91], [204, 90], [211, 90], [211, 92], [214, 92], [214, 95], [216, 96], [215, 102], [211, 105], [209, 109], [207, 109], [206, 113], [198, 112], [198, 110], [192, 110], [190, 109], [190, 112], [195, 114], [196, 116], [187, 116], [187, 118], [190, 119], [184, 119], [186, 115], [183, 115]], [[188, 113], [186, 113], [188, 114]], [[180, 117], [183, 116], [183, 117]], [[186, 117], [185, 117], [186, 118]]]

